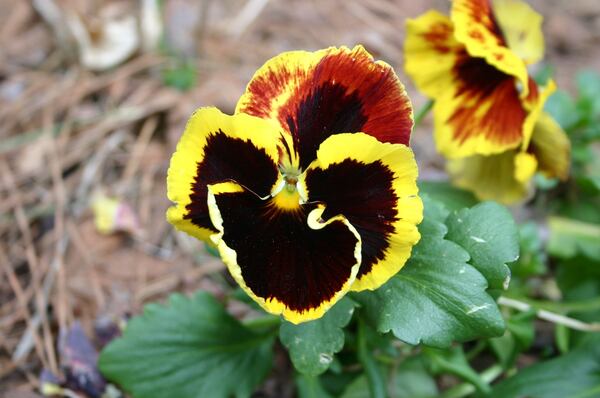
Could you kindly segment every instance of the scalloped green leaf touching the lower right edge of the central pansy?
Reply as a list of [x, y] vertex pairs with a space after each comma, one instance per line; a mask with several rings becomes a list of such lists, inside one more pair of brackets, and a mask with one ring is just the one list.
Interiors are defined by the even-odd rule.
[[487, 281], [468, 260], [456, 243], [422, 233], [397, 275], [355, 298], [377, 330], [391, 330], [409, 344], [444, 348], [453, 341], [502, 335], [504, 320], [486, 292]]

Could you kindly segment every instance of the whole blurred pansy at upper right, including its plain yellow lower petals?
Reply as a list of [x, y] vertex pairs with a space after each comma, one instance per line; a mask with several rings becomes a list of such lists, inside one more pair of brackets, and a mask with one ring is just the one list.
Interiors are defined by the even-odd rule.
[[482, 199], [510, 203], [536, 171], [568, 173], [569, 141], [542, 110], [554, 83], [540, 87], [527, 71], [543, 56], [541, 23], [518, 0], [455, 0], [450, 17], [429, 11], [407, 23], [405, 68], [435, 100], [437, 148]]

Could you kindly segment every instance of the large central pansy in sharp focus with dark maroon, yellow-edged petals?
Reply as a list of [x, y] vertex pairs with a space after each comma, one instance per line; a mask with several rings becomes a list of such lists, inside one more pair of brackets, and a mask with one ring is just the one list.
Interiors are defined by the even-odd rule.
[[233, 116], [192, 115], [167, 218], [212, 240], [268, 312], [319, 318], [349, 290], [385, 283], [420, 238], [412, 124], [392, 68], [363, 47], [280, 54]]

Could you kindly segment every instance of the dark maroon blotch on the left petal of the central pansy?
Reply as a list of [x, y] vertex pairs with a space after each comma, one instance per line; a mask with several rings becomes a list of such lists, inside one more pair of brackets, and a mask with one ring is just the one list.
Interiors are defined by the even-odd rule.
[[204, 157], [198, 163], [192, 184], [191, 203], [186, 207], [188, 214], [184, 218], [217, 232], [208, 215], [209, 184], [231, 180], [265, 197], [270, 194], [278, 175], [277, 166], [263, 149], [219, 130], [207, 139]]

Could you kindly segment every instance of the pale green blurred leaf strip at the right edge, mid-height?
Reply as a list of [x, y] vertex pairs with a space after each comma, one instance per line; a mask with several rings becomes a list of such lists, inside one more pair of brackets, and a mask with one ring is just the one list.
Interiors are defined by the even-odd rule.
[[600, 260], [600, 225], [562, 217], [550, 217], [548, 252], [556, 257], [571, 258], [578, 253]]

